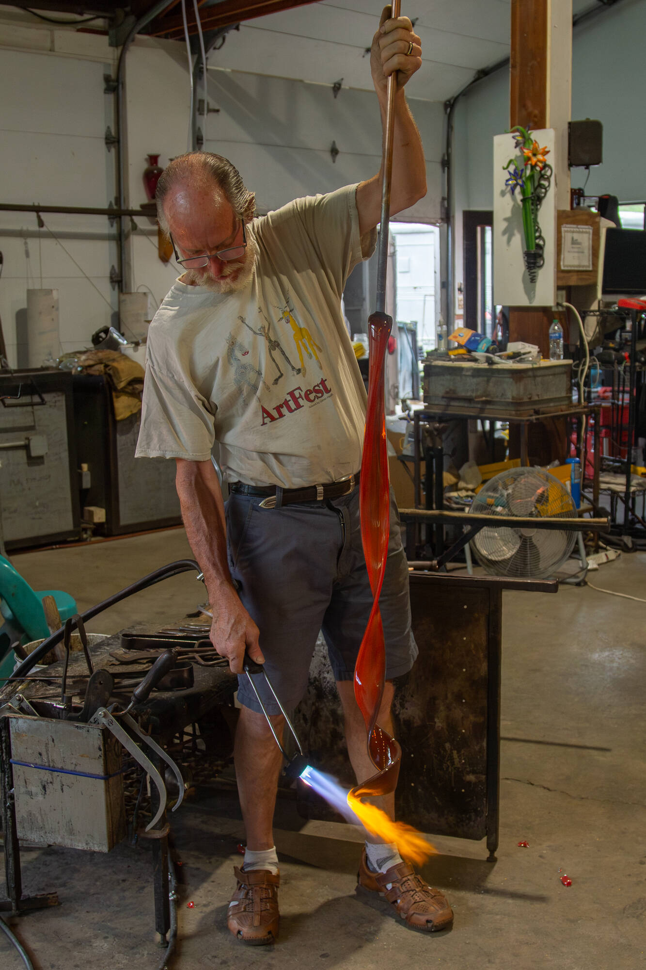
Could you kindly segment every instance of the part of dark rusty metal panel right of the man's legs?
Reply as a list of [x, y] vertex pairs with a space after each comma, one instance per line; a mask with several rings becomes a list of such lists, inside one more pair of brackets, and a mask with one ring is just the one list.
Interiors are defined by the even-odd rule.
[[398, 812], [422, 831], [480, 839], [490, 593], [412, 581], [410, 598], [420, 655], [395, 701], [404, 748]]

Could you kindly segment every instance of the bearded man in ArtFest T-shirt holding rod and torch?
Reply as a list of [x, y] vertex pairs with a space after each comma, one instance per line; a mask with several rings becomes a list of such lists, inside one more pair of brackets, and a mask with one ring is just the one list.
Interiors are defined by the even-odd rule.
[[[391, 212], [426, 192], [424, 153], [404, 98], [421, 65], [407, 17], [381, 17], [371, 73], [382, 120], [397, 72]], [[211, 639], [242, 672], [244, 650], [266, 663], [294, 708], [307, 689], [319, 630], [328, 643], [358, 781], [374, 773], [352, 675], [371, 607], [356, 485], [365, 391], [340, 311], [353, 266], [371, 255], [380, 217], [376, 175], [253, 219], [254, 197], [226, 159], [180, 156], [157, 186], [160, 222], [184, 274], [150, 325], [138, 455], [177, 461], [186, 533], [204, 571]], [[225, 505], [215, 454], [230, 498]], [[417, 654], [396, 509], [380, 598], [387, 684], [378, 723], [392, 732], [392, 680]], [[263, 678], [257, 679], [263, 691]], [[235, 761], [246, 850], [228, 925], [240, 940], [278, 932], [273, 816], [281, 756], [245, 679]], [[276, 731], [283, 719], [263, 696]], [[394, 796], [382, 799], [393, 814]], [[359, 882], [387, 894], [410, 925], [452, 921], [395, 846], [368, 842]]]

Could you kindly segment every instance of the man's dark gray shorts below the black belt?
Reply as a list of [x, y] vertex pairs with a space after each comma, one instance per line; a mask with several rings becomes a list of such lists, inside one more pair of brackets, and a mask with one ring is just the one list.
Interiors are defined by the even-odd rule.
[[[260, 630], [275, 692], [293, 710], [307, 690], [319, 631], [336, 680], [352, 680], [372, 595], [359, 519], [359, 488], [330, 502], [260, 508], [262, 499], [232, 494], [226, 502], [231, 575]], [[379, 608], [386, 641], [386, 679], [407, 673], [417, 657], [410, 629], [408, 566], [391, 493], [388, 559]], [[279, 713], [264, 677], [254, 683], [270, 714]], [[246, 676], [238, 698], [260, 711]]]

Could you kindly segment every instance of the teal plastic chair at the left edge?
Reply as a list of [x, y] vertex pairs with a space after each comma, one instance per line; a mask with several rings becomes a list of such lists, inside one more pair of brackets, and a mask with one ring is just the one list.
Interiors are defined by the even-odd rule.
[[14, 669], [12, 643], [42, 640], [49, 635], [43, 597], [53, 597], [65, 622], [79, 612], [76, 600], [61, 590], [32, 590], [14, 566], [0, 556], [0, 613], [4, 624], [0, 627], [0, 684]]

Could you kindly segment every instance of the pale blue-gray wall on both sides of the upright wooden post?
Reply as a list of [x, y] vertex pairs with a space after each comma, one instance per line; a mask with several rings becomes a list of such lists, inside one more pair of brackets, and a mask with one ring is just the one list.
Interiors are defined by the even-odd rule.
[[[646, 198], [645, 33], [646, 0], [621, 0], [574, 30], [572, 117], [603, 124], [603, 164], [590, 170], [589, 195], [609, 192], [625, 202]], [[479, 81], [455, 112], [456, 286], [462, 280], [462, 211], [492, 209], [492, 140], [508, 126], [509, 73], [503, 68]], [[585, 169], [573, 169], [572, 185], [583, 185], [586, 176]]]

